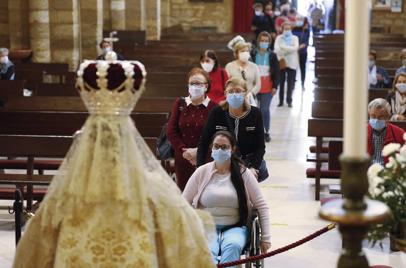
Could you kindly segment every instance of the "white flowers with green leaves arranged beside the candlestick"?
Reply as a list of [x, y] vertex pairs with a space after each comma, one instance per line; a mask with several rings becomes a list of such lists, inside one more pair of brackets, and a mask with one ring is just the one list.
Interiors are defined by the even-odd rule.
[[[406, 133], [403, 138], [406, 140]], [[388, 234], [393, 238], [406, 240], [406, 144], [388, 144], [382, 150], [382, 156], [389, 162], [383, 167], [371, 165], [367, 176], [369, 182], [368, 197], [384, 202], [391, 208], [389, 221], [372, 225], [367, 238], [372, 246]]]

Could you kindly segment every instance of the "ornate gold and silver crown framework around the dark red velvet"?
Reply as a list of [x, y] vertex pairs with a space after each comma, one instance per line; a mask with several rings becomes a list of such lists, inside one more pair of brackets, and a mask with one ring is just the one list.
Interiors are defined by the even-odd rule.
[[[96, 83], [98, 88], [89, 86], [83, 79], [85, 69], [90, 64], [96, 64]], [[124, 70], [126, 79], [122, 84], [114, 89], [108, 88], [108, 69], [110, 64], [119, 64]], [[134, 88], [134, 65], [137, 65], [142, 74], [142, 81], [138, 90]], [[115, 114], [129, 115], [134, 109], [142, 92], [145, 90], [147, 79], [145, 67], [138, 61], [105, 61], [105, 60], [84, 60], [79, 66], [76, 88], [91, 114]]]

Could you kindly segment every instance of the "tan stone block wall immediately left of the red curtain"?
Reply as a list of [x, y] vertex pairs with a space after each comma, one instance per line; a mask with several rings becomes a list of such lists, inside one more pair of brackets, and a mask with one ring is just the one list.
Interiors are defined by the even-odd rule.
[[171, 0], [171, 26], [182, 24], [185, 32], [190, 31], [192, 26], [216, 26], [217, 32], [232, 32], [233, 2], [233, 0], [223, 0], [222, 3]]

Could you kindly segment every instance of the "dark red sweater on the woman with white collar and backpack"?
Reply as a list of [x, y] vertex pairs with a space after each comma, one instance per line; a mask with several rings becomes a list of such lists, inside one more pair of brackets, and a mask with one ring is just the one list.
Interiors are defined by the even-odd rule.
[[175, 158], [189, 162], [183, 158], [182, 148], [197, 148], [207, 117], [213, 107], [218, 103], [210, 100], [207, 107], [204, 104], [194, 106], [186, 105], [179, 110], [180, 98], [173, 104], [171, 118], [166, 129], [166, 138], [175, 150]]

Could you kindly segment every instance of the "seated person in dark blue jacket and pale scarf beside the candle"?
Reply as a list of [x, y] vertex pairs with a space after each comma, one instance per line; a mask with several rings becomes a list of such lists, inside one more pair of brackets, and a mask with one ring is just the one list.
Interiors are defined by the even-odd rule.
[[368, 84], [369, 88], [391, 88], [391, 79], [381, 66], [375, 64], [376, 51], [369, 50], [368, 56]]

